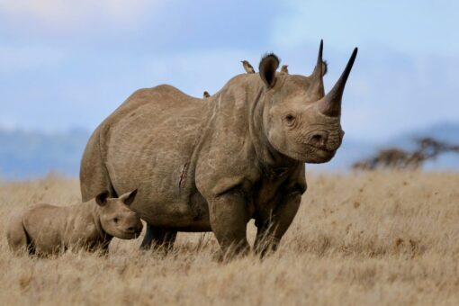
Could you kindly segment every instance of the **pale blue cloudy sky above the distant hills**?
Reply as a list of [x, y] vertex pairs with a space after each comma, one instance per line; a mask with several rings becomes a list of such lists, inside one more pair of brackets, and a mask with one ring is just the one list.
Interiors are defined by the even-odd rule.
[[93, 130], [140, 87], [214, 93], [266, 51], [309, 75], [320, 39], [326, 88], [359, 47], [347, 137], [459, 121], [457, 12], [445, 0], [0, 0], [0, 127]]

